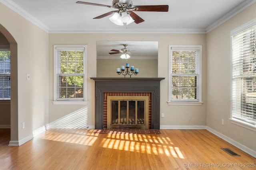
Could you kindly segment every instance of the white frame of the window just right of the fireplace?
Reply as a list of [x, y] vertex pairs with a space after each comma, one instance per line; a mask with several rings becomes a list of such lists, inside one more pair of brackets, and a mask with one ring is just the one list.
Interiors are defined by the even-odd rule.
[[[175, 50], [172, 50], [174, 48]], [[169, 45], [168, 52], [168, 105], [202, 105], [202, 45]], [[172, 100], [172, 51], [198, 50], [198, 101]]]

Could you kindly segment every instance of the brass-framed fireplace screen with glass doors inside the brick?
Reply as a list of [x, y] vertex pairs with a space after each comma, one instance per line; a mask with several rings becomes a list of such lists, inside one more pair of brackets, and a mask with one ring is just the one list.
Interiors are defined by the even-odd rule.
[[[134, 99], [137, 96], [128, 97], [133, 99], [127, 99], [127, 96], [108, 97], [115, 98], [108, 100], [108, 128], [148, 127], [148, 97], [147, 100]], [[144, 97], [139, 96], [139, 98]]]

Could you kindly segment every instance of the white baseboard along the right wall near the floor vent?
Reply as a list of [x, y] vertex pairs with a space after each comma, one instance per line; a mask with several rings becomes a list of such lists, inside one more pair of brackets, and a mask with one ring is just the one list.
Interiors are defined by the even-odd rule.
[[231, 145], [234, 145], [235, 147], [237, 147], [238, 149], [241, 149], [242, 151], [250, 154], [251, 156], [253, 156], [254, 158], [256, 158], [256, 151], [252, 150], [236, 141], [234, 141], [233, 139], [223, 135], [222, 133], [219, 133], [218, 131], [215, 131], [214, 129], [210, 128], [210, 127], [206, 127], [206, 130], [213, 133], [214, 135], [220, 137], [221, 139], [223, 139], [224, 141], [230, 143]]

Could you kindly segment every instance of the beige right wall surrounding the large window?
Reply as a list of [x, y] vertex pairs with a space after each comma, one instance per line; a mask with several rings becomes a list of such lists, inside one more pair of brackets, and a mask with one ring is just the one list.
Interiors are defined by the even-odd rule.
[[[207, 33], [207, 126], [256, 150], [256, 131], [230, 123], [230, 31], [256, 18], [256, 4]], [[224, 119], [224, 125], [221, 124]]]

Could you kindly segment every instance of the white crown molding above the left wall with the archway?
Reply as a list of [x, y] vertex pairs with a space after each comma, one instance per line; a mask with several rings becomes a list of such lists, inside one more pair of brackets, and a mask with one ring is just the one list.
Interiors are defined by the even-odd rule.
[[23, 8], [15, 4], [12, 0], [0, 0], [2, 4], [13, 10], [14, 12], [18, 13], [22, 17], [24, 17], [26, 20], [34, 23], [36, 26], [41, 28], [42, 30], [46, 31], [48, 33], [49, 27], [47, 27], [44, 23], [39, 21], [38, 19], [34, 18], [31, 14], [26, 12]]

